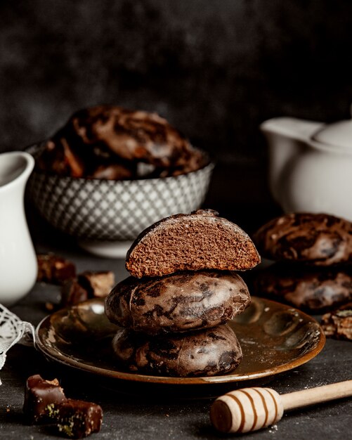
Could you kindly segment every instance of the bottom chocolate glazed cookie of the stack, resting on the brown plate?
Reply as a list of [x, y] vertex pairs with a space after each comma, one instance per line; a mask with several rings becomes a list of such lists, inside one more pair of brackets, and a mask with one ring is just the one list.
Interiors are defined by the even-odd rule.
[[129, 370], [152, 375], [213, 376], [235, 370], [242, 360], [242, 349], [228, 325], [159, 337], [119, 330], [112, 348]]

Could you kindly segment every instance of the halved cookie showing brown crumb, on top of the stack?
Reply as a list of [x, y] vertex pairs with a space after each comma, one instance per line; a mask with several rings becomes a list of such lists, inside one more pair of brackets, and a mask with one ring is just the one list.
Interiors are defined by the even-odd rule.
[[157, 221], [126, 254], [126, 269], [136, 278], [203, 269], [246, 271], [259, 262], [249, 235], [211, 209]]

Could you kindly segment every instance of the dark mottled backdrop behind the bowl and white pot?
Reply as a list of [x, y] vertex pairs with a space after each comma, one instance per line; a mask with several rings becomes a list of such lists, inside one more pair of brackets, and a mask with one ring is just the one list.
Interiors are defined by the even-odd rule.
[[260, 122], [347, 118], [351, 47], [348, 0], [1, 1], [0, 150], [116, 103], [159, 112], [216, 156], [214, 207], [225, 186], [265, 200]]

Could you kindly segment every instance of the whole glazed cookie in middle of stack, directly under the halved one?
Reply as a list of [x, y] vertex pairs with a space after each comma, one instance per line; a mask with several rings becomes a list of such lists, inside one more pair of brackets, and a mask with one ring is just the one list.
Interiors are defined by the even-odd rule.
[[157, 335], [224, 324], [249, 303], [247, 285], [234, 272], [181, 272], [126, 278], [105, 300], [105, 313], [112, 323]]

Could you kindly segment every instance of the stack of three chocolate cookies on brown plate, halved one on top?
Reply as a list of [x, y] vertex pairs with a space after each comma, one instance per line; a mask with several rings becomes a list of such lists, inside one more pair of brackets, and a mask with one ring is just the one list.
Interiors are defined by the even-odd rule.
[[138, 236], [126, 255], [129, 278], [105, 299], [105, 313], [121, 325], [117, 359], [136, 373], [210, 376], [242, 360], [226, 323], [250, 303], [235, 271], [260, 257], [237, 225], [212, 210], [176, 214]]

